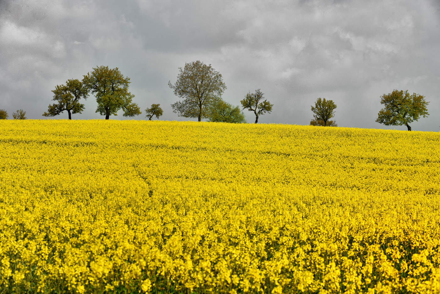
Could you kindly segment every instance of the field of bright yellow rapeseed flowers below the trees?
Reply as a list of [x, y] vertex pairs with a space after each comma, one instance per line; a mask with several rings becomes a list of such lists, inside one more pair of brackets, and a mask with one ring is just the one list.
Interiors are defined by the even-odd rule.
[[0, 293], [439, 293], [439, 141], [0, 121]]

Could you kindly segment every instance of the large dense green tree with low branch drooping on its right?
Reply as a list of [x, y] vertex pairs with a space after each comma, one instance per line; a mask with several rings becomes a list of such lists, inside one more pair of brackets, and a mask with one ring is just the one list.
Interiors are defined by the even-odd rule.
[[87, 73], [83, 78], [84, 86], [95, 94], [98, 107], [96, 112], [105, 115], [117, 115], [119, 109], [124, 110], [124, 116], [141, 114], [139, 106], [132, 102], [135, 97], [128, 92], [130, 78], [124, 77], [119, 69], [100, 66], [93, 68], [92, 73]]

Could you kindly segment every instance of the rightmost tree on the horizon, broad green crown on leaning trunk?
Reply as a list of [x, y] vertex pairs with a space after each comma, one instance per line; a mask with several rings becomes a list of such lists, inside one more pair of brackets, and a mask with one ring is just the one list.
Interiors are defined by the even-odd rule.
[[385, 126], [407, 126], [411, 130], [409, 123], [417, 121], [420, 116], [429, 115], [427, 106], [429, 101], [425, 97], [416, 93], [410, 95], [408, 90], [393, 90], [392, 93], [381, 96], [381, 104], [385, 107], [378, 113], [376, 122], [383, 123]]

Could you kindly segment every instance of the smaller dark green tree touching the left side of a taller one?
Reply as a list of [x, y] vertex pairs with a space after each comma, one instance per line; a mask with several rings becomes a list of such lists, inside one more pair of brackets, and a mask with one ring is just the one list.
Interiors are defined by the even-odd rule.
[[49, 104], [48, 111], [44, 112], [43, 116], [59, 115], [66, 110], [69, 119], [72, 119], [72, 113], [81, 113], [84, 110], [84, 104], [79, 100], [87, 99], [88, 89], [80, 80], [67, 80], [66, 85], [57, 85], [52, 92], [54, 93], [52, 100], [58, 103]]

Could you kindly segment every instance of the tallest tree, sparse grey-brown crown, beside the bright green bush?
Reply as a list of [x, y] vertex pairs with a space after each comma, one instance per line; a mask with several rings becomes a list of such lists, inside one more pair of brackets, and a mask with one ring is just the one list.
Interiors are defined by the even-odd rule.
[[183, 99], [171, 104], [173, 112], [183, 117], [197, 117], [200, 122], [209, 116], [210, 109], [220, 99], [226, 85], [211, 64], [206, 65], [200, 60], [185, 63], [185, 67], [179, 67], [179, 70], [176, 83], [168, 82], [174, 95]]

